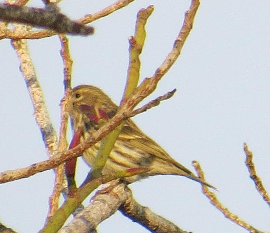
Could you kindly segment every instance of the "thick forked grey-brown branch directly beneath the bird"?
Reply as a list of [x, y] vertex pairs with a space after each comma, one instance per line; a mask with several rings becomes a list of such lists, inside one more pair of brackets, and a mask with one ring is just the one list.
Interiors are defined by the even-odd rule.
[[152, 232], [187, 233], [172, 222], [153, 213], [149, 208], [139, 205], [133, 199], [131, 190], [122, 182], [119, 184], [112, 184], [111, 182], [105, 184], [104, 189], [98, 191], [92, 198], [91, 204], [77, 214], [58, 233], [95, 231], [98, 224], [114, 214], [118, 208], [124, 215], [137, 221]]

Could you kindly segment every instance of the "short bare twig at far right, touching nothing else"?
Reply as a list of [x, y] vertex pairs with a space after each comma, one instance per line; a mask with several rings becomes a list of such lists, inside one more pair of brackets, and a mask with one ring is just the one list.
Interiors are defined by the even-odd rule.
[[261, 178], [256, 173], [255, 165], [254, 165], [254, 163], [252, 161], [253, 154], [248, 149], [248, 145], [246, 143], [244, 143], [244, 151], [245, 151], [245, 154], [246, 154], [245, 164], [246, 164], [246, 166], [248, 168], [250, 178], [254, 181], [254, 184], [255, 184], [255, 187], [256, 187], [257, 191], [261, 194], [262, 198], [266, 201], [266, 203], [270, 207], [270, 197], [269, 197], [265, 187], [262, 184]]

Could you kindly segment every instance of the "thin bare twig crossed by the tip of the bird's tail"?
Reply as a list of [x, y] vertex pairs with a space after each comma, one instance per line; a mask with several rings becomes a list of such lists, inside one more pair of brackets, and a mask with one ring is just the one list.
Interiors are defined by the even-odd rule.
[[[200, 164], [197, 161], [192, 161], [192, 165], [193, 167], [195, 167], [198, 177], [204, 181], [205, 177], [202, 172], [202, 168]], [[221, 202], [218, 201], [218, 198], [216, 197], [216, 195], [213, 192], [211, 192], [205, 185], [202, 185], [202, 193], [205, 194], [205, 196], [210, 200], [211, 204], [214, 205], [219, 211], [221, 211], [222, 214], [224, 214], [226, 218], [235, 222], [237, 225], [247, 229], [250, 233], [264, 233], [252, 227], [251, 225], [243, 221], [241, 218], [239, 218], [237, 215], [229, 211], [228, 208], [222, 205]]]

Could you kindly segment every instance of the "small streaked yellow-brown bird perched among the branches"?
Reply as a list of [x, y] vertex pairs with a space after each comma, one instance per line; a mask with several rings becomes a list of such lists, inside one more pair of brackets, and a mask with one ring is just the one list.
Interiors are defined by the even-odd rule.
[[[75, 135], [75, 139], [73, 138], [73, 144], [83, 141], [91, 136], [92, 132], [99, 129], [99, 120], [108, 120], [109, 118], [112, 118], [118, 109], [118, 106], [113, 103], [101, 89], [88, 85], [80, 85], [72, 89], [70, 104], [72, 127], [74, 134], [77, 133], [77, 136]], [[99, 147], [100, 142], [88, 148], [83, 153], [83, 158], [90, 167], [95, 159]], [[70, 148], [72, 148], [72, 143]], [[74, 166], [74, 164], [71, 165], [71, 167], [72, 166]], [[132, 120], [128, 119], [122, 127], [114, 148], [112, 149], [103, 168], [102, 174], [137, 167], [150, 168], [150, 170], [143, 174], [125, 177], [123, 178], [125, 182], [132, 183], [153, 175], [172, 174], [185, 176], [209, 187], [215, 188], [196, 177], [182, 164], [179, 164], [172, 159], [172, 157], [170, 157], [162, 147], [146, 136]], [[67, 168], [66, 165], [67, 177], [68, 173], [75, 173], [75, 170], [70, 172], [68, 169], [69, 168]], [[74, 174], [72, 175], [74, 176]]]

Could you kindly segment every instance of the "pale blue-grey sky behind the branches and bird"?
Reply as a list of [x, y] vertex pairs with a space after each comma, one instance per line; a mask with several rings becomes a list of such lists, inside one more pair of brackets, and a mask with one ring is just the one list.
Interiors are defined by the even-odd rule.
[[[71, 19], [78, 19], [113, 2], [63, 0], [59, 6]], [[28, 5], [42, 7], [38, 0]], [[138, 10], [148, 5], [154, 5], [155, 11], [146, 26], [141, 80], [152, 76], [172, 48], [189, 0], [137, 0], [92, 23], [93, 36], [68, 36], [74, 60], [72, 86], [101, 87], [119, 103], [127, 73], [128, 37], [134, 34]], [[178, 91], [173, 98], [133, 119], [189, 169], [193, 170], [192, 160], [198, 160], [207, 181], [218, 187], [219, 200], [261, 231], [270, 229], [269, 206], [249, 178], [243, 143], [253, 151], [257, 173], [269, 190], [269, 9], [269, 1], [202, 0], [181, 56], [147, 100], [174, 88]], [[63, 96], [59, 39], [32, 40], [29, 47], [58, 131]], [[10, 40], [0, 41], [0, 51], [0, 171], [5, 171], [45, 160], [47, 154]], [[78, 170], [80, 182], [89, 168], [80, 162]], [[20, 233], [40, 230], [53, 181], [53, 171], [45, 171], [1, 184], [0, 221]], [[246, 232], [226, 219], [201, 193], [200, 185], [187, 178], [155, 176], [130, 187], [140, 204], [186, 231]], [[102, 222], [98, 231], [148, 232], [120, 212]]]

